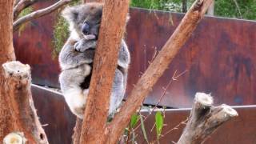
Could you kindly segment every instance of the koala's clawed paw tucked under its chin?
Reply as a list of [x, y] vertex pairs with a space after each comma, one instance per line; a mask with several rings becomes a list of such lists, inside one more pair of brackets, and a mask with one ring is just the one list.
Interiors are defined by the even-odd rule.
[[86, 50], [89, 50], [89, 49], [95, 49], [96, 46], [97, 46], [97, 41], [95, 40], [81, 39], [80, 41], [74, 44], [74, 50], [78, 52], [85, 52]]

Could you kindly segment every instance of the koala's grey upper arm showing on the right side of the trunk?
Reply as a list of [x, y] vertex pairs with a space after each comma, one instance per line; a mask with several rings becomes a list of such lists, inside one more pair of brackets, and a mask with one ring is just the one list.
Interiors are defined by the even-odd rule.
[[123, 69], [127, 70], [130, 64], [130, 53], [126, 42], [122, 39], [121, 47], [118, 54], [118, 66], [121, 66]]

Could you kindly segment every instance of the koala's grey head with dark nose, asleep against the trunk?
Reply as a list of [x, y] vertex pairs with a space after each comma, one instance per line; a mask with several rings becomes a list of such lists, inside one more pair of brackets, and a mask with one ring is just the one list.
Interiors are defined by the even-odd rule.
[[62, 16], [70, 24], [70, 30], [75, 30], [80, 38], [94, 36], [98, 38], [98, 31], [102, 19], [101, 3], [86, 3], [84, 5], [66, 7]]

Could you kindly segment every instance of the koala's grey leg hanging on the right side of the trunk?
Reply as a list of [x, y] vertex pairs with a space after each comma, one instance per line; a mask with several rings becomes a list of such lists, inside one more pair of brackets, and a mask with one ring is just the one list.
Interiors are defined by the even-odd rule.
[[120, 106], [122, 99], [124, 98], [124, 94], [126, 91], [126, 75], [122, 74], [120, 70], [115, 70], [114, 75], [114, 83], [112, 86], [112, 92], [110, 96], [110, 116], [115, 113], [115, 111]]

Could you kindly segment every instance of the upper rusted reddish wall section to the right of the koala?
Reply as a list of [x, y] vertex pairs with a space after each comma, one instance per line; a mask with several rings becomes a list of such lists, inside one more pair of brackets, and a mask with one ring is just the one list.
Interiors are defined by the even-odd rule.
[[[132, 51], [132, 72], [128, 91], [137, 82], [140, 72], [149, 66], [154, 48], [161, 50], [183, 14], [135, 9], [131, 10], [130, 17], [127, 40]], [[162, 105], [191, 106], [194, 94], [198, 91], [212, 93], [218, 104], [255, 104], [255, 39], [256, 22], [204, 18], [154, 86], [146, 103], [158, 101], [162, 87], [170, 82], [177, 70], [177, 74], [186, 73], [172, 82]]]

